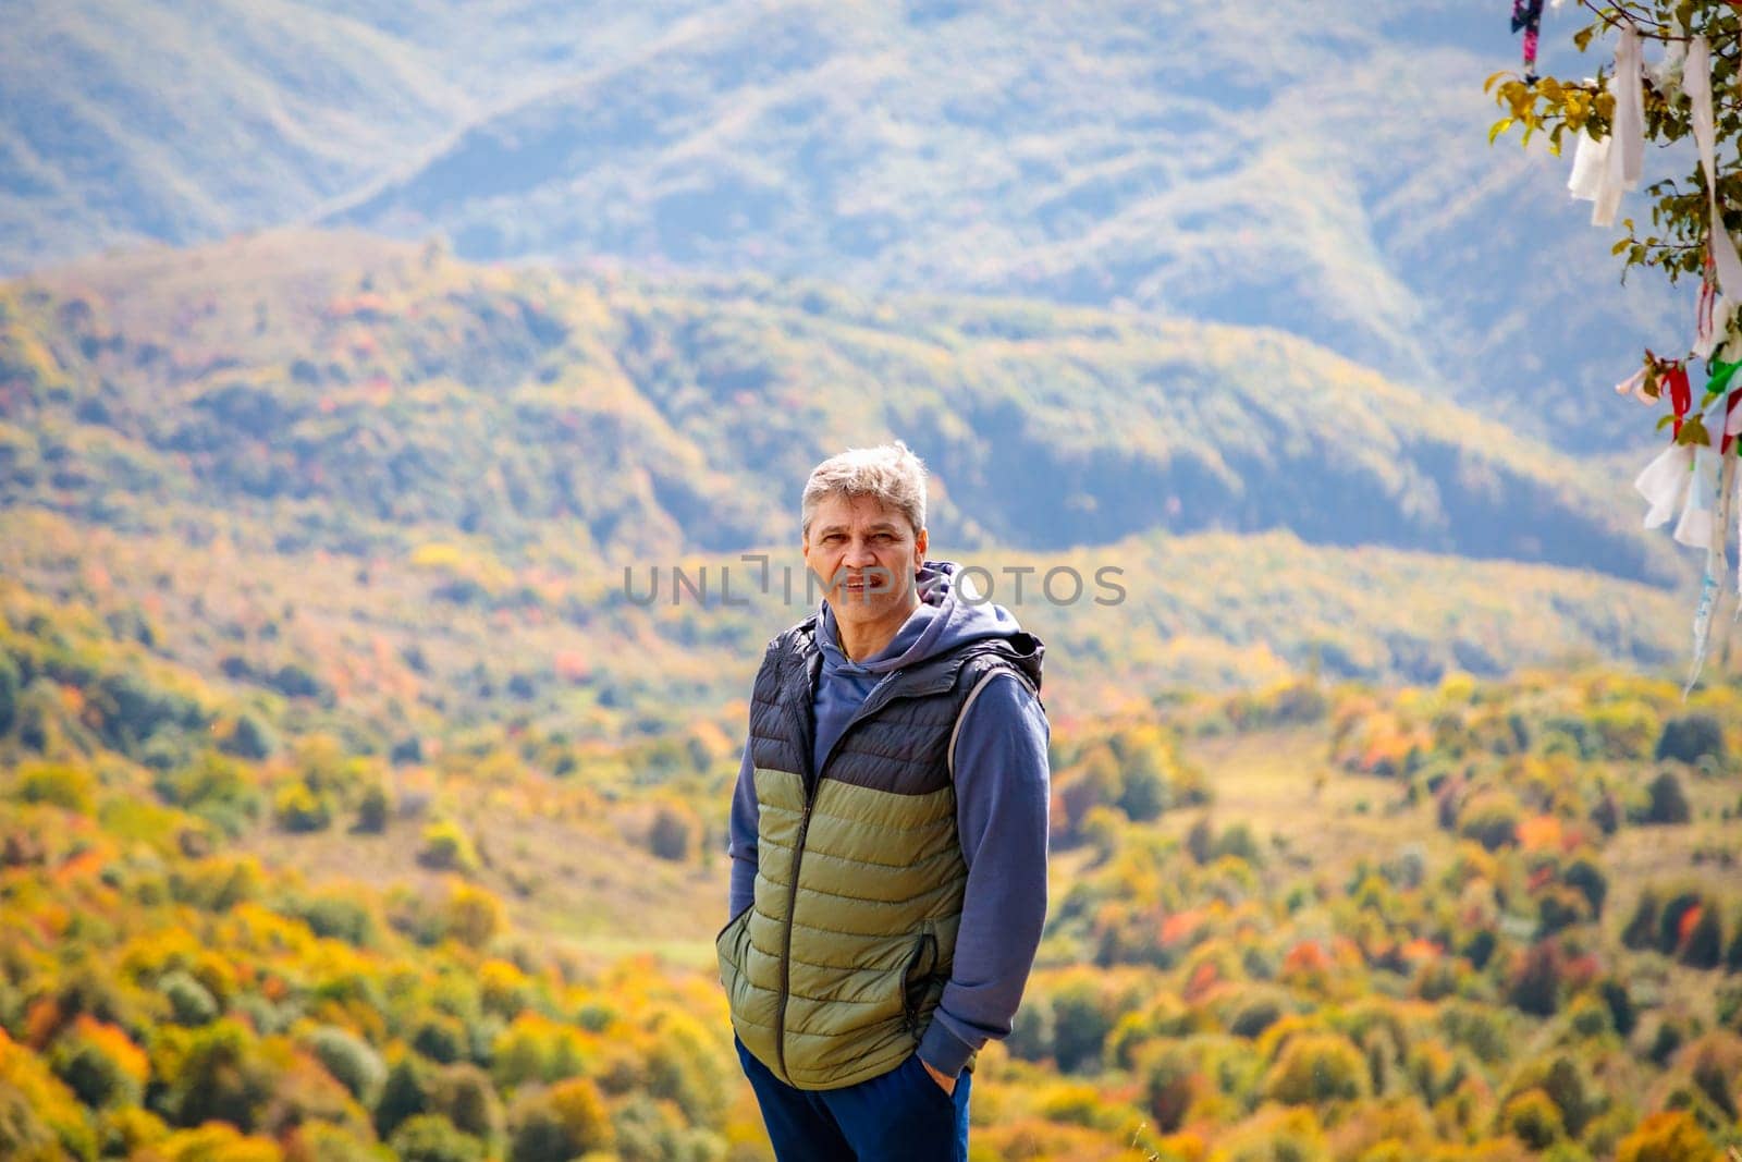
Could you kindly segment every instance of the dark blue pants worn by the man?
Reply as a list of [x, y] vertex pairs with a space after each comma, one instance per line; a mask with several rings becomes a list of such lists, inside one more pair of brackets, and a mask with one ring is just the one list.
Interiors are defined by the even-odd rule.
[[974, 1077], [967, 1070], [953, 1094], [927, 1073], [920, 1054], [841, 1089], [794, 1089], [737, 1035], [732, 1040], [779, 1162], [967, 1162]]

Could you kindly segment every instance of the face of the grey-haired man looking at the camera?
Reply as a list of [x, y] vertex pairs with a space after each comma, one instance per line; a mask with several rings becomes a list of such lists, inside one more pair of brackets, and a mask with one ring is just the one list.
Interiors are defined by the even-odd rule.
[[874, 497], [826, 497], [801, 549], [836, 622], [869, 625], [906, 617], [918, 599], [913, 575], [925, 561], [925, 530], [915, 535], [908, 517]]

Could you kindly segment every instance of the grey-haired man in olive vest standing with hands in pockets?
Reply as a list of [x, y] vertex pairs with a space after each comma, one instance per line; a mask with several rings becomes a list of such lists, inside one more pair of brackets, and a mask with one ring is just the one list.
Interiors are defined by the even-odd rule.
[[768, 643], [716, 937], [780, 1162], [965, 1162], [1047, 911], [1042, 643], [927, 561], [906, 444], [810, 474], [819, 608]]

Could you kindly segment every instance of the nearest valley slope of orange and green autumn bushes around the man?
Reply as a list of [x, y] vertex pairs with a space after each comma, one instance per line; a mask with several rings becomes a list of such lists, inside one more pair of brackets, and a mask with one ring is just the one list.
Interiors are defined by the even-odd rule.
[[[1742, 1143], [1739, 706], [1583, 671], [1056, 721], [976, 1162]], [[550, 742], [381, 754], [0, 575], [0, 1155], [766, 1162], [730, 746]]]

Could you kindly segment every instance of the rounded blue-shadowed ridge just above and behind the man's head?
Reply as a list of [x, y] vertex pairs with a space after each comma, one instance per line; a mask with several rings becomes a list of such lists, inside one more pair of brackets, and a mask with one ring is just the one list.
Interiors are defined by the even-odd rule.
[[965, 545], [1287, 528], [1674, 575], [1597, 470], [1273, 331], [277, 233], [7, 284], [0, 373], [5, 495], [124, 528], [732, 551], [791, 537], [819, 458], [899, 434]]

